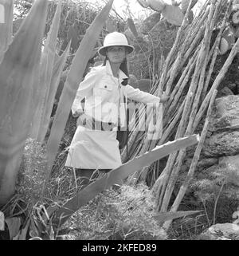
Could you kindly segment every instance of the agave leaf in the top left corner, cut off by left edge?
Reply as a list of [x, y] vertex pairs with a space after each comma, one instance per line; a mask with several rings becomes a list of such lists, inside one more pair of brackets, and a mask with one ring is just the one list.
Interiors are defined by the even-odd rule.
[[2, 21], [0, 21], [0, 63], [8, 45], [12, 41], [13, 34], [13, 12], [14, 0], [0, 0], [1, 14], [4, 14]]

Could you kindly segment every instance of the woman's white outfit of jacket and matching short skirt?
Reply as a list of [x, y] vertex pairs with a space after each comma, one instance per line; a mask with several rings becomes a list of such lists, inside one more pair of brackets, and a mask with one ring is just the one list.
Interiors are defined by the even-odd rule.
[[[72, 114], [81, 110], [80, 101], [85, 97], [84, 112], [88, 116], [116, 124], [120, 113], [120, 122], [125, 124], [126, 105], [120, 104], [119, 107], [119, 95], [121, 103], [123, 95], [126, 99], [143, 103], [159, 102], [160, 98], [157, 96], [134, 89], [130, 85], [121, 85], [124, 78], [127, 76], [121, 70], [119, 78], [113, 77], [108, 61], [105, 66], [93, 68], [79, 85], [72, 104]], [[79, 125], [72, 138], [65, 166], [84, 169], [119, 167], [122, 162], [116, 135], [116, 128], [112, 131], [100, 131]]]

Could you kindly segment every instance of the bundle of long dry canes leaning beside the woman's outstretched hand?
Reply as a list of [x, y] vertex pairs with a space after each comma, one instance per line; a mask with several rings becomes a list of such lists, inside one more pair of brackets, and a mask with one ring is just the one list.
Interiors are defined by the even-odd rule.
[[[193, 134], [198, 128], [198, 124], [203, 120], [204, 125], [200, 134], [200, 141], [194, 152], [194, 158], [186, 179], [170, 207], [170, 198], [182, 167], [182, 161], [186, 156], [186, 149], [170, 154], [163, 170], [160, 170], [158, 161], [151, 167], [145, 167], [136, 172], [129, 179], [131, 183], [145, 182], [149, 171], [154, 174], [155, 179], [151, 179], [151, 188], [156, 197], [158, 210], [161, 212], [177, 211], [186, 193], [206, 139], [217, 87], [225, 77], [225, 73], [238, 52], [239, 40], [233, 45], [220, 72], [213, 84], [210, 85], [217, 54], [220, 53], [221, 35], [225, 27], [228, 26], [232, 2], [232, 0], [229, 2], [226, 0], [207, 1], [198, 16], [189, 24], [187, 18], [193, 3], [192, 0], [190, 1], [182, 26], [178, 29], [174, 45], [162, 66], [161, 76], [158, 81], [155, 81], [151, 89], [151, 93], [157, 96], [162, 95], [163, 92], [170, 96], [167, 104], [163, 106], [162, 136], [158, 140], [151, 140], [147, 137], [147, 132], [142, 132], [140, 129], [139, 126], [143, 124], [140, 119], [144, 118], [143, 113], [145, 112], [143, 105], [139, 108], [139, 121], [135, 122], [134, 120], [130, 124], [131, 134], [127, 152], [126, 149], [122, 152], [123, 162], [151, 151], [156, 145]], [[224, 14], [222, 19], [221, 14]], [[212, 44], [211, 37], [216, 26], [220, 28], [220, 31]], [[152, 111], [149, 110], [147, 115], [152, 116]], [[164, 223], [165, 228], [168, 228], [169, 225], [170, 221]]]

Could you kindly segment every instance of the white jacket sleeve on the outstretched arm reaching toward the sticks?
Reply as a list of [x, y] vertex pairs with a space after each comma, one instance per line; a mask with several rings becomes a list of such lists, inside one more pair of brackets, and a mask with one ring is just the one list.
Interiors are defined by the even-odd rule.
[[160, 101], [160, 98], [158, 96], [154, 96], [151, 93], [144, 93], [139, 89], [133, 88], [131, 85], [125, 86], [125, 92], [129, 99], [143, 102], [145, 104], [153, 102], [159, 103]]

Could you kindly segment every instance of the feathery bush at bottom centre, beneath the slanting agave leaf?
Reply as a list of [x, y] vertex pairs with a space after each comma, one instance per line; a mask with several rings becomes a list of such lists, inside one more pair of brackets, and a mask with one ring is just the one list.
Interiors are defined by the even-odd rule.
[[155, 199], [147, 186], [123, 185], [97, 195], [80, 208], [65, 226], [65, 239], [165, 239], [156, 214]]

